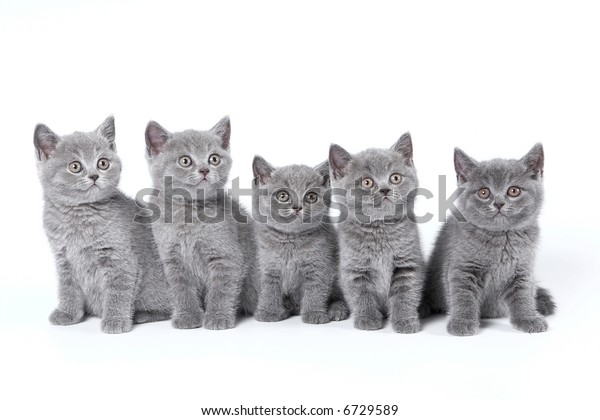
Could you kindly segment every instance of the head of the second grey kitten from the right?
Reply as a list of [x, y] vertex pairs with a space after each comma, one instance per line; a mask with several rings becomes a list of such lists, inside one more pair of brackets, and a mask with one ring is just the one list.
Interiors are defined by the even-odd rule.
[[389, 149], [351, 155], [338, 145], [329, 149], [331, 183], [345, 191], [350, 215], [362, 222], [406, 215], [409, 193], [418, 186], [412, 140], [403, 134]]

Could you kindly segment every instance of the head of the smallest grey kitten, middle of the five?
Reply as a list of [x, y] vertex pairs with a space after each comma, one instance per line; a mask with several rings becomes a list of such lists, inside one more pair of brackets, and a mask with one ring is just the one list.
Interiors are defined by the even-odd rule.
[[329, 165], [275, 168], [260, 156], [252, 162], [253, 208], [267, 224], [284, 232], [302, 232], [323, 223], [329, 187]]

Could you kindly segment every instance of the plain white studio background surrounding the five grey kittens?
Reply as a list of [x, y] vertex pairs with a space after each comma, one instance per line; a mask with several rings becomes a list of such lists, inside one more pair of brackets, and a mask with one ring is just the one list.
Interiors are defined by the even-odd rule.
[[[592, 4], [590, 2], [590, 4]], [[398, 418], [576, 416], [595, 402], [600, 14], [575, 1], [43, 2], [0, 5], [0, 416], [198, 418], [199, 407], [398, 404]], [[410, 130], [421, 186], [453, 186], [452, 150], [546, 151], [537, 273], [550, 330], [475, 337], [443, 317], [416, 335], [352, 321], [169, 322], [125, 335], [47, 321], [54, 263], [32, 138], [117, 124], [122, 188], [149, 185], [144, 128], [232, 121], [241, 185], [258, 153], [317, 164], [329, 144], [389, 147]], [[423, 200], [436, 214], [436, 200]], [[429, 254], [439, 223], [421, 225]]]

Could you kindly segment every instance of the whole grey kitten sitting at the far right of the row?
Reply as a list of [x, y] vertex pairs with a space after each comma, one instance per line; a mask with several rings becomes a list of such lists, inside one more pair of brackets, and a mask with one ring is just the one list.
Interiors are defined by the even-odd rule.
[[476, 162], [455, 149], [460, 188], [457, 208], [437, 239], [427, 272], [422, 312], [449, 312], [448, 332], [473, 335], [480, 318], [510, 315], [534, 333], [548, 328], [555, 305], [533, 280], [542, 207], [544, 149], [536, 144], [520, 160]]

